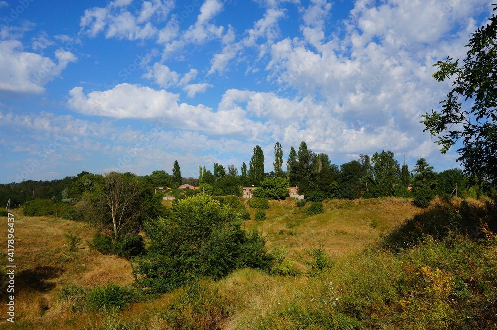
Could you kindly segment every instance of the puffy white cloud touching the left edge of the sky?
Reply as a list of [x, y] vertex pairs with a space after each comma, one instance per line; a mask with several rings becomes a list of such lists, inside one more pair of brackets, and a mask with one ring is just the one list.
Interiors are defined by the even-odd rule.
[[77, 58], [71, 52], [57, 50], [57, 63], [48, 57], [23, 51], [20, 41], [0, 42], [0, 90], [42, 93], [44, 86], [58, 77], [69, 62]]

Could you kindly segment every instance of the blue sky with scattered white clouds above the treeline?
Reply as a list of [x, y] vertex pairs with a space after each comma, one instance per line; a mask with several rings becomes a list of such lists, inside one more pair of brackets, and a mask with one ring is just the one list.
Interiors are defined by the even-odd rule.
[[85, 170], [183, 176], [305, 140], [341, 165], [457, 167], [421, 115], [488, 0], [0, 1], [0, 183]]

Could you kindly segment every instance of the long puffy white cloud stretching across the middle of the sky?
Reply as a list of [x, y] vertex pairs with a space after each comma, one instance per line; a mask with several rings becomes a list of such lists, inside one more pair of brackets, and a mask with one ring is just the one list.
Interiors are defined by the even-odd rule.
[[82, 87], [69, 92], [68, 105], [81, 113], [111, 118], [160, 119], [176, 129], [202, 131], [210, 134], [255, 136], [264, 129], [262, 123], [246, 118], [241, 109], [213, 112], [202, 104], [178, 103], [179, 96], [165, 90], [139, 85], [120, 84], [104, 92], [88, 95]]

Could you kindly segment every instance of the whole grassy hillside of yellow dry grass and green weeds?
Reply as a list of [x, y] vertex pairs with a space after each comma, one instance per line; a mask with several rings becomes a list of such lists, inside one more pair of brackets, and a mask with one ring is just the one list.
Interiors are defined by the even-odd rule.
[[[242, 269], [136, 298], [121, 312], [83, 308], [78, 291], [67, 290], [131, 283], [126, 260], [101, 255], [84, 240], [68, 251], [64, 233], [91, 238], [84, 223], [19, 215], [17, 322], [5, 322], [3, 300], [0, 329], [497, 329], [495, 207], [438, 204], [423, 211], [406, 199], [337, 200], [306, 217], [293, 200], [271, 202], [266, 220], [244, 226], [267, 235], [268, 248], [285, 249], [301, 275]], [[308, 252], [319, 244], [332, 266], [310, 277]]]

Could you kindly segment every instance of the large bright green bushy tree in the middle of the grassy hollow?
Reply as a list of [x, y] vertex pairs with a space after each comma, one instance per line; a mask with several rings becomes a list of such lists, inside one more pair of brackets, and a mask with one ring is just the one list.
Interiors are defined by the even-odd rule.
[[136, 282], [165, 292], [199, 277], [219, 279], [245, 267], [268, 271], [273, 257], [256, 230], [240, 228], [240, 214], [201, 194], [179, 200], [171, 213], [145, 226], [146, 254], [134, 260]]

